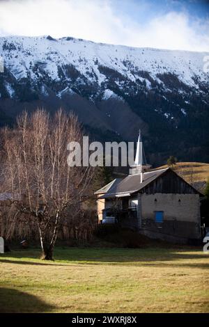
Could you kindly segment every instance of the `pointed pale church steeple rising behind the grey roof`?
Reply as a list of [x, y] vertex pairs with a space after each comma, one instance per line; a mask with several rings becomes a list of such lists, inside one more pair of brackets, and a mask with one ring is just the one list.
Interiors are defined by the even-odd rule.
[[141, 130], [139, 129], [139, 137], [137, 141], [137, 152], [134, 160], [134, 165], [132, 166], [132, 169], [130, 170], [130, 173], [138, 174], [143, 173], [145, 170], [148, 170], [150, 168], [150, 165], [146, 163], [146, 156], [144, 152], [144, 147], [142, 143], [141, 138]]

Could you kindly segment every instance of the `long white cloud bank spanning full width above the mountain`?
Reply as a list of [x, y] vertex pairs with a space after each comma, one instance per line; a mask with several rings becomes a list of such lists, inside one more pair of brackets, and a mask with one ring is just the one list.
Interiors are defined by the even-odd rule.
[[95, 42], [209, 51], [209, 20], [169, 12], [140, 24], [116, 15], [110, 0], [1, 0], [0, 35], [74, 36]]

